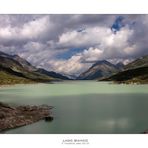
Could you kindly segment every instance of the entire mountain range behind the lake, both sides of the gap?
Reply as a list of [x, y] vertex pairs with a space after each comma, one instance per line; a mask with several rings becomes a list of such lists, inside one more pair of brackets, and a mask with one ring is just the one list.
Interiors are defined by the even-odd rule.
[[[148, 83], [148, 56], [140, 57], [127, 65], [123, 65], [123, 63], [112, 64], [106, 60], [97, 61], [75, 79]], [[70, 80], [70, 78], [54, 71], [37, 68], [18, 55], [9, 55], [0, 51], [0, 84], [59, 80]]]

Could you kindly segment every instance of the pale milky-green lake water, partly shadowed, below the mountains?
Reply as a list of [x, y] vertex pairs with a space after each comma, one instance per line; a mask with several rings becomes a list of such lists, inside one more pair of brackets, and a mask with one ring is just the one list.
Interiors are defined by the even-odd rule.
[[54, 106], [54, 120], [11, 129], [13, 134], [141, 133], [148, 129], [148, 85], [63, 81], [0, 88], [0, 101]]

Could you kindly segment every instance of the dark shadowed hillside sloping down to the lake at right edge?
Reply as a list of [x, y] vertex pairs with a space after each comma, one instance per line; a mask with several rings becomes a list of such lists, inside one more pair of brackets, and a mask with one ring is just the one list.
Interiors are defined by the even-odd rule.
[[148, 56], [140, 57], [124, 66], [123, 71], [114, 74], [103, 81], [115, 81], [118, 83], [148, 83]]

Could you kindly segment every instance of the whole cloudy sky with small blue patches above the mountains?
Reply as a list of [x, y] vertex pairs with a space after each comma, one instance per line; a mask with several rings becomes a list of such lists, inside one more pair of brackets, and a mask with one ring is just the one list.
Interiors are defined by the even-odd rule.
[[148, 15], [0, 15], [0, 51], [68, 75], [126, 64], [148, 54]]

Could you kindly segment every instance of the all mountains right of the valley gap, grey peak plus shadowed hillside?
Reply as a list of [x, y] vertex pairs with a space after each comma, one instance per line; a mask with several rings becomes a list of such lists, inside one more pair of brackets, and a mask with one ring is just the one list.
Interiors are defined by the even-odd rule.
[[112, 64], [106, 60], [97, 61], [77, 79], [115, 81], [117, 83], [148, 83], [148, 55], [137, 58], [127, 65]]

